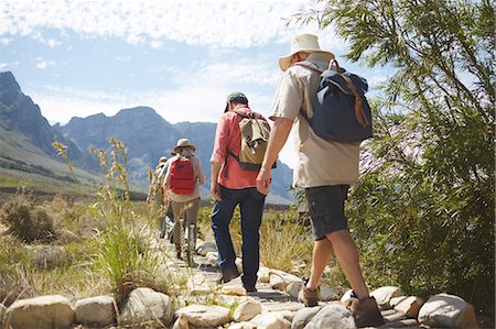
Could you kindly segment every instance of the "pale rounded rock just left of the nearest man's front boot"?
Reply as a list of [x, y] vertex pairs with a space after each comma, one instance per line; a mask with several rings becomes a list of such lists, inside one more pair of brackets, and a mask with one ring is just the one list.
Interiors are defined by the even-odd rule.
[[305, 329], [356, 329], [353, 315], [338, 304], [324, 306]]

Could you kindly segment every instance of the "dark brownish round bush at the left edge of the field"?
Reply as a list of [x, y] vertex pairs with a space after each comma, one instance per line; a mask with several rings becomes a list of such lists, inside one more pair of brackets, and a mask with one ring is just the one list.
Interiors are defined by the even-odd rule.
[[55, 237], [53, 219], [45, 210], [36, 208], [32, 194], [20, 187], [2, 207], [0, 220], [11, 233], [23, 242], [47, 241]]

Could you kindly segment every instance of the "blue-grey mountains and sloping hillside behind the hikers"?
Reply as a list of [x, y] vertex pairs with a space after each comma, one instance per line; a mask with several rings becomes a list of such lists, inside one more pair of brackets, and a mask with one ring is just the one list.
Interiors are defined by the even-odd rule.
[[[196, 145], [197, 156], [207, 176], [202, 195], [208, 198], [209, 157], [215, 138], [215, 123], [181, 122], [171, 124], [152, 108], [122, 109], [114, 117], [103, 113], [72, 118], [61, 127], [50, 125], [40, 107], [21, 90], [12, 73], [0, 73], [0, 187], [14, 188], [22, 182], [53, 193], [77, 189], [98, 182], [98, 162], [88, 149], [109, 151], [111, 136], [122, 141], [128, 151], [128, 171], [133, 190], [148, 190], [148, 171], [160, 156], [170, 156], [176, 141], [188, 138]], [[62, 160], [53, 142], [67, 146], [68, 158]], [[75, 167], [76, 179], [67, 166]], [[292, 171], [278, 163], [269, 204], [289, 204]], [[62, 188], [62, 190], [61, 190]]]

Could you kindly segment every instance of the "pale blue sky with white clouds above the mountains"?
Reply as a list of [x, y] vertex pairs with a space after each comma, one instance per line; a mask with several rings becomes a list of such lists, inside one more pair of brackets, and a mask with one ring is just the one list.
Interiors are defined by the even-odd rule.
[[[346, 43], [332, 29], [283, 18], [317, 9], [288, 1], [0, 1], [0, 70], [11, 70], [43, 116], [116, 114], [152, 107], [171, 123], [216, 122], [233, 90], [269, 114], [281, 77], [278, 58], [291, 37], [319, 35], [348, 70], [374, 88], [382, 68], [346, 63]], [[281, 160], [293, 167], [288, 143]]]

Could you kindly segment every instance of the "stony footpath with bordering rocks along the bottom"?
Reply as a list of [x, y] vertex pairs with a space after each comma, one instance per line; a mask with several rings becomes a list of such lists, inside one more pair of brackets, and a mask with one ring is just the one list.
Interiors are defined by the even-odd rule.
[[[171, 252], [163, 242], [153, 248]], [[19, 299], [8, 308], [0, 304], [0, 328], [356, 328], [352, 314], [343, 306], [351, 290], [338, 296], [332, 287], [322, 286], [319, 305], [304, 307], [296, 298], [301, 278], [261, 267], [258, 292], [247, 294], [240, 278], [224, 285], [215, 283], [219, 276], [215, 244], [202, 244], [197, 253], [193, 268], [182, 262], [168, 264], [188, 277], [188, 296], [177, 300], [147, 287], [132, 290], [121, 309], [111, 296], [76, 301], [60, 295], [40, 296]], [[386, 320], [380, 328], [476, 328], [474, 307], [457, 296], [439, 294], [424, 301], [393, 286], [380, 287], [371, 295]]]

